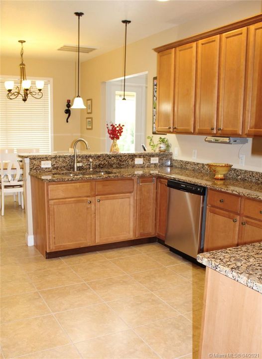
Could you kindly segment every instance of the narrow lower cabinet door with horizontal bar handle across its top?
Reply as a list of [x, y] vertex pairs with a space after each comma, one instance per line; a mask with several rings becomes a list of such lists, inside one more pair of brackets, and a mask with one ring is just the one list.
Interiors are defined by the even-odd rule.
[[155, 197], [155, 179], [137, 179], [136, 237], [155, 235]]

